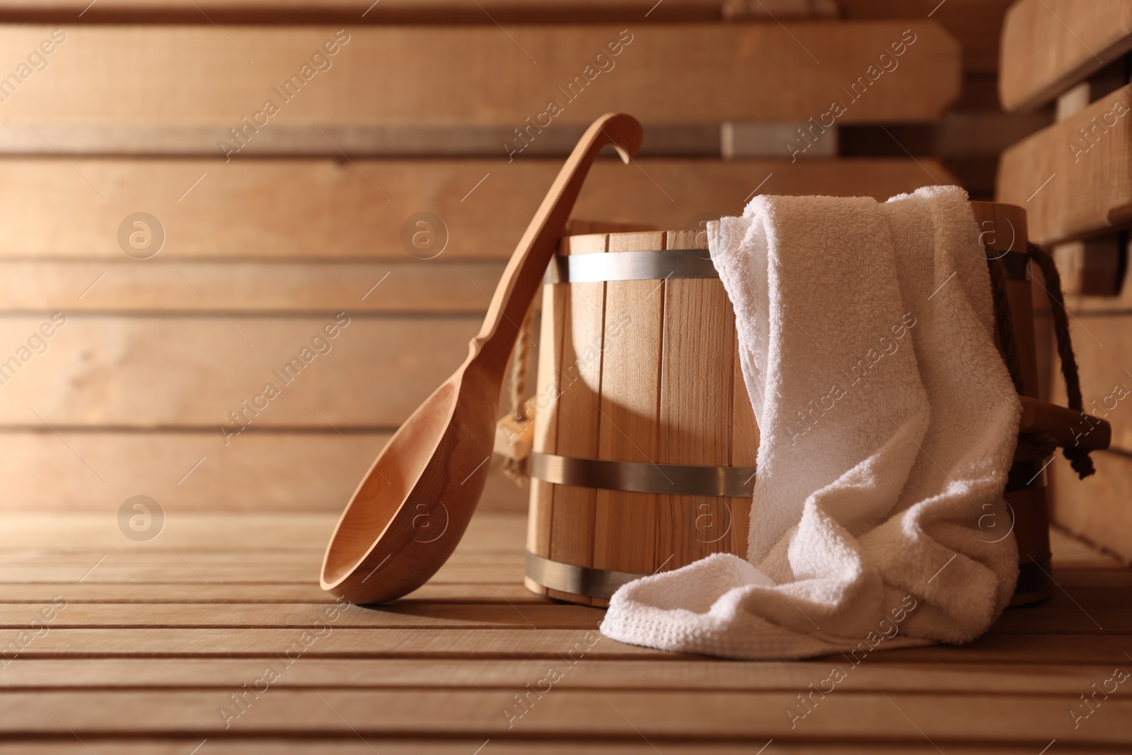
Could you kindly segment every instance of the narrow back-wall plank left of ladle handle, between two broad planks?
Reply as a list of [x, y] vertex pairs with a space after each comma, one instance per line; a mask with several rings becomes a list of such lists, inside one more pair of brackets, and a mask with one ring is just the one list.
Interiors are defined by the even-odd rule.
[[[125, 257], [125, 256], [123, 256]], [[408, 258], [409, 256], [405, 255]], [[483, 314], [503, 263], [0, 259], [0, 311]]]

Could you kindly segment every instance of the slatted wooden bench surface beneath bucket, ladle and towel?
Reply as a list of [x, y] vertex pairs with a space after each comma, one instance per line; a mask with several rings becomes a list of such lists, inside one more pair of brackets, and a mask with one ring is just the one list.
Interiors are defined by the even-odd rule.
[[[207, 739], [215, 752], [256, 755], [311, 747], [468, 755], [490, 739], [514, 753], [749, 755], [773, 738], [781, 752], [811, 755], [928, 752], [921, 745], [976, 752], [974, 740], [1001, 755], [1039, 752], [1054, 738], [1066, 752], [1112, 748], [1129, 736], [1120, 695], [1080, 729], [1069, 709], [1126, 666], [1132, 572], [1064, 535], [1054, 539], [1054, 560], [1067, 594], [1007, 611], [962, 647], [872, 654], [848, 671], [851, 688], [791, 726], [787, 707], [844, 659], [731, 662], [603, 638], [599, 610], [515, 599], [524, 529], [516, 514], [473, 517], [427, 591], [377, 609], [334, 609], [326, 593], [308, 597], [332, 523], [183, 515], [162, 538], [134, 543], [110, 516], [0, 515], [0, 575], [26, 580], [8, 582], [0, 601], [0, 645], [9, 651], [0, 752], [185, 755]], [[260, 537], [248, 550], [251, 527]], [[63, 578], [108, 549], [83, 582]], [[1066, 568], [1066, 557], [1088, 566]], [[28, 617], [53, 595], [65, 595], [66, 608], [26, 643]], [[268, 666], [276, 679], [233, 707], [231, 695]], [[550, 667], [565, 669], [552, 690], [532, 694], [509, 719], [515, 694]], [[280, 738], [295, 735], [298, 749]]]

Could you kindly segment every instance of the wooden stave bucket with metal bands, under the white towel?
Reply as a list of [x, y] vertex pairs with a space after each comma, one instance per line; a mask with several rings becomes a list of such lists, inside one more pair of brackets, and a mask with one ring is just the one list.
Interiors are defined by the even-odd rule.
[[[972, 205], [1003, 252], [1024, 252], [1024, 211]], [[703, 231], [563, 238], [542, 299], [524, 576], [533, 592], [607, 606], [641, 575], [715, 552], [746, 557], [758, 428], [706, 248]], [[1023, 377], [1037, 396], [1028, 265], [1011, 261]], [[1048, 570], [1045, 478], [1032, 464], [1015, 464], [1006, 499], [1023, 559]], [[1045, 597], [1031, 572], [1020, 590]]]

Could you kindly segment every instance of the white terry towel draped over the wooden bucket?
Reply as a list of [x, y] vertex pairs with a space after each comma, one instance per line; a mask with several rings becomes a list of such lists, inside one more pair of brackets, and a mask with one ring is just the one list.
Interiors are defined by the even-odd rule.
[[967, 195], [756, 197], [710, 226], [761, 430], [747, 560], [626, 584], [621, 642], [746, 659], [984, 633], [1018, 551], [1020, 404]]

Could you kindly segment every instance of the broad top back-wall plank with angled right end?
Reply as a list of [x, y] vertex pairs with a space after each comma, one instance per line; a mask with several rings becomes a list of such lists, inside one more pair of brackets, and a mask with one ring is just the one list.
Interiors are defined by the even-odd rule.
[[[912, 44], [899, 59], [901, 74], [874, 74], [875, 86], [866, 77], [868, 96], [849, 98], [840, 120], [931, 119], [959, 94], [959, 45], [931, 19], [796, 26], [790, 34], [778, 24], [532, 25], [507, 34], [494, 25], [231, 26], [220, 33], [212, 25], [72, 26], [50, 58], [51, 72], [27, 79], [5, 102], [5, 120], [41, 129], [132, 123], [226, 132], [245, 128], [248, 118], [258, 123], [247, 131], [249, 141], [259, 129], [298, 123], [525, 129], [526, 118], [534, 123], [548, 112], [548, 101], [559, 104], [547, 123], [588, 123], [617, 110], [642, 122], [804, 121], [847, 98], [840, 87], [871, 66], [880, 71], [877, 55], [903, 36]], [[31, 51], [51, 32], [0, 27], [0, 48]], [[316, 61], [319, 72], [309, 61], [327, 42], [334, 54]], [[609, 44], [618, 54], [598, 61], [608, 70], [586, 69]], [[672, 55], [677, 49], [681, 54]], [[282, 91], [305, 63], [310, 72], [298, 94], [273, 89]], [[580, 94], [567, 96], [580, 76]], [[266, 101], [277, 112], [265, 114]], [[531, 128], [528, 140], [537, 140], [541, 128]], [[516, 138], [515, 148], [522, 145]]]

